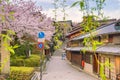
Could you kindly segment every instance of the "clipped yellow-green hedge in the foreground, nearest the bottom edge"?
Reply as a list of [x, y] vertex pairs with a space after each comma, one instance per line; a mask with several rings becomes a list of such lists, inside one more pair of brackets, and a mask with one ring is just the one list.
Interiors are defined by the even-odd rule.
[[33, 72], [32, 67], [11, 67], [8, 80], [30, 80]]

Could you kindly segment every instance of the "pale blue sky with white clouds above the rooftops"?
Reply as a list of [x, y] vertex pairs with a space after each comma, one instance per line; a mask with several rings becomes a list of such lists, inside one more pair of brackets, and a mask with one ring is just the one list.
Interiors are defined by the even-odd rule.
[[[54, 6], [53, 0], [33, 0], [36, 2], [37, 6], [43, 8], [42, 13], [46, 14], [48, 17], [54, 18]], [[73, 22], [82, 21], [82, 12], [79, 10], [79, 7], [70, 8], [73, 2], [78, 0], [67, 0], [66, 8], [66, 20], [72, 20]], [[63, 13], [61, 12], [62, 8], [59, 7], [57, 11], [57, 20], [62, 21]], [[106, 3], [103, 8], [104, 16], [109, 17], [110, 19], [120, 19], [120, 0], [106, 0]]]

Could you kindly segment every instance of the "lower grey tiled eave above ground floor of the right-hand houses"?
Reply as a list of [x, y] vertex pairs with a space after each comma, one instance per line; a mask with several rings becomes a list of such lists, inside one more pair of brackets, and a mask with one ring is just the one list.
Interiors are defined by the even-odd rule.
[[[66, 48], [66, 50], [68, 51], [80, 51], [85, 49], [86, 51], [93, 51], [92, 47], [70, 47], [70, 48]], [[105, 46], [99, 46], [97, 47], [96, 50], [97, 53], [101, 53], [101, 54], [111, 54], [111, 55], [120, 55], [120, 45], [105, 45]]]

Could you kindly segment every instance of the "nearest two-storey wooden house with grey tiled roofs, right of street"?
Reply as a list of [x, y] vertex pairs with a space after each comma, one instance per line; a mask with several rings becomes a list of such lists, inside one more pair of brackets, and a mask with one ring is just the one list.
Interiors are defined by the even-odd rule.
[[[98, 46], [95, 51], [97, 59], [102, 63], [107, 61], [112, 64], [111, 68], [108, 68], [107, 65], [104, 66], [105, 76], [110, 80], [117, 80], [120, 75], [120, 21], [103, 25], [93, 33], [97, 33], [95, 35], [96, 40], [103, 42], [103, 45]], [[90, 34], [88, 33], [73, 38], [71, 40], [72, 44], [66, 48], [67, 58], [72, 64], [97, 76], [100, 73], [100, 64], [96, 60], [92, 48], [84, 47], [82, 43], [83, 39], [89, 36]], [[86, 54], [83, 53], [84, 49]]]

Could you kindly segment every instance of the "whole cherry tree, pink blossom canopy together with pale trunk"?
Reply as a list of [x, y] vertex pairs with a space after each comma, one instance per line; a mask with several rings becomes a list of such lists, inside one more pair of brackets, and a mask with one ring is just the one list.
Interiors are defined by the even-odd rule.
[[[50, 40], [54, 33], [52, 19], [41, 13], [42, 8], [35, 5], [32, 1], [23, 0], [0, 0], [0, 32], [9, 30], [11, 34], [17, 34], [19, 39], [24, 34], [32, 35], [37, 39], [38, 32], [44, 31], [46, 39]], [[15, 32], [15, 33], [14, 33]], [[6, 36], [6, 37], [5, 37]], [[6, 43], [1, 43], [1, 71], [9, 74], [10, 72], [10, 52], [14, 53], [16, 46], [11, 46], [8, 42], [10, 36], [3, 35]], [[3, 37], [1, 39], [3, 39]], [[5, 50], [5, 47], [8, 49]], [[6, 52], [5, 52], [6, 51]]]

